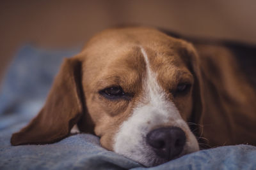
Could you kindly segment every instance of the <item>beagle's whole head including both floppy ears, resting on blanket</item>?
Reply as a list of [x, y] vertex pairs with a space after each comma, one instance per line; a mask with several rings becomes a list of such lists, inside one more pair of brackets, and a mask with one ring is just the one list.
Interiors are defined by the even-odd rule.
[[66, 59], [44, 108], [12, 145], [52, 143], [77, 124], [145, 166], [199, 150], [187, 122], [202, 109], [195, 49], [155, 29], [111, 29]]

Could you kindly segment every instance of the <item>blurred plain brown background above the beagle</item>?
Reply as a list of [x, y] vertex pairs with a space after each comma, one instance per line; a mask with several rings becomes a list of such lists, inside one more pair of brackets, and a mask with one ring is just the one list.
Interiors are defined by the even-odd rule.
[[0, 80], [25, 43], [44, 48], [83, 45], [115, 25], [161, 27], [185, 36], [256, 44], [256, 1], [43, 1], [0, 2]]

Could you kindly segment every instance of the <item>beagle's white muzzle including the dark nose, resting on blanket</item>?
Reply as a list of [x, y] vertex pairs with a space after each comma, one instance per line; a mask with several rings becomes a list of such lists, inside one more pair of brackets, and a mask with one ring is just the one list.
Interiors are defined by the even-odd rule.
[[195, 135], [179, 118], [179, 111], [173, 109], [174, 106], [164, 107], [166, 105], [163, 110], [138, 107], [134, 115], [120, 125], [113, 151], [152, 167], [199, 150]]

